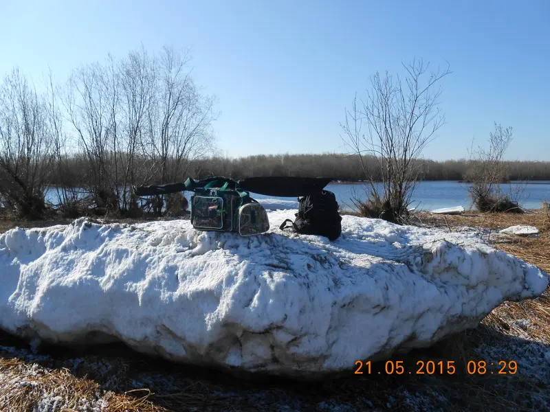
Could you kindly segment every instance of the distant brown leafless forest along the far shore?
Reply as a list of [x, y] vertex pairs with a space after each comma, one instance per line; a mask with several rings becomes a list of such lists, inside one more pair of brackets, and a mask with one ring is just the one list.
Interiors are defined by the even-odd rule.
[[[365, 159], [365, 158], [364, 158]], [[135, 159], [137, 165], [140, 159]], [[419, 160], [420, 178], [423, 180], [467, 181], [475, 161], [467, 159], [433, 161]], [[170, 159], [168, 159], [170, 163]], [[374, 165], [375, 159], [366, 158], [367, 165]], [[550, 161], [507, 161], [507, 180], [550, 180]], [[142, 170], [148, 168], [148, 162], [143, 159]], [[87, 159], [71, 157], [67, 159], [67, 172], [76, 185], [89, 183]], [[139, 166], [136, 167], [140, 169]], [[139, 173], [137, 173], [139, 175]], [[357, 155], [254, 155], [230, 159], [227, 157], [205, 157], [190, 161], [186, 176], [193, 179], [203, 179], [210, 176], [226, 176], [232, 179], [245, 179], [251, 176], [296, 176], [296, 177], [331, 177], [339, 181], [360, 181], [365, 179], [360, 160]], [[65, 175], [66, 177], [66, 175]], [[137, 179], [139, 180], [139, 179]], [[160, 179], [144, 179], [137, 184], [167, 183]], [[122, 182], [121, 182], [122, 183]], [[51, 185], [61, 184], [55, 175]]]

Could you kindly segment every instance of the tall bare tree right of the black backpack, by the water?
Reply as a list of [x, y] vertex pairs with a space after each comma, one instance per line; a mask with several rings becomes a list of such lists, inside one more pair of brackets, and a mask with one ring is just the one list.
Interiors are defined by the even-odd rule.
[[[341, 124], [344, 143], [359, 156], [368, 184], [368, 200], [358, 203], [360, 210], [393, 222], [406, 220], [421, 172], [418, 159], [445, 123], [436, 87], [450, 73], [448, 68], [428, 73], [422, 60], [403, 67], [404, 80], [387, 71], [372, 76], [366, 100], [358, 103], [355, 96]], [[370, 167], [369, 155], [375, 159]]]

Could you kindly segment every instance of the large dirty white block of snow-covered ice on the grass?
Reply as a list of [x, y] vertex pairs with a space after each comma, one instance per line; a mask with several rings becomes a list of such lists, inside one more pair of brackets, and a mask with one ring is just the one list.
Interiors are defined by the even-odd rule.
[[342, 216], [342, 236], [196, 231], [188, 220], [12, 229], [0, 328], [54, 343], [124, 341], [243, 371], [319, 376], [474, 328], [548, 276], [472, 233]]

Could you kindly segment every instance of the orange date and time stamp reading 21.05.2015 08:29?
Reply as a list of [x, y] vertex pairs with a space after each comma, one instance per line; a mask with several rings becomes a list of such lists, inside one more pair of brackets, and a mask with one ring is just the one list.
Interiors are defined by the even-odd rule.
[[[515, 375], [518, 371], [516, 361], [468, 361], [466, 372], [470, 375]], [[404, 361], [386, 361], [373, 365], [371, 361], [355, 361], [355, 375], [454, 375], [454, 361], [417, 361], [415, 367], [406, 367]]]

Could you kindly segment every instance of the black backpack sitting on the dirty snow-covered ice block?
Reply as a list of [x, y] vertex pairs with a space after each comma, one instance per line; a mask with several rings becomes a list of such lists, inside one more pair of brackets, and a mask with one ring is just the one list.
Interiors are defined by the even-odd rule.
[[[333, 192], [323, 190], [318, 194], [309, 194], [299, 199], [296, 220], [286, 219], [280, 229], [294, 227], [303, 235], [326, 236], [336, 240], [342, 233], [342, 216], [338, 213], [338, 202]], [[285, 226], [287, 222], [292, 225]]]

